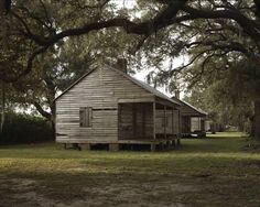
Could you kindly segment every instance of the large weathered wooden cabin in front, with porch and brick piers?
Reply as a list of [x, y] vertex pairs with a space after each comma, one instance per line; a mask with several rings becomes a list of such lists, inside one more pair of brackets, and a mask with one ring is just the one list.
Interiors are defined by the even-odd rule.
[[110, 150], [180, 143], [180, 103], [123, 70], [102, 65], [55, 99], [57, 143]]

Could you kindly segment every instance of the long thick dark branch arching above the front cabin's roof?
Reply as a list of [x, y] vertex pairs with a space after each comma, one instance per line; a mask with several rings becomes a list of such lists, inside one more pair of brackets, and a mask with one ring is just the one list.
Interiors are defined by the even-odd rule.
[[116, 18], [106, 21], [87, 23], [82, 28], [65, 30], [53, 36], [47, 36], [47, 37], [46, 36], [42, 37], [37, 34], [33, 34], [30, 31], [26, 23], [18, 14], [13, 12], [13, 15], [18, 18], [18, 20], [21, 21], [22, 24], [24, 25], [25, 31], [23, 32], [23, 35], [33, 40], [41, 46], [50, 46], [66, 36], [77, 36], [77, 35], [88, 34], [91, 31], [115, 28], [115, 26], [123, 28], [127, 33], [132, 33], [138, 35], [150, 35], [156, 32], [158, 30], [172, 24], [177, 12], [182, 10], [182, 8], [185, 6], [186, 2], [187, 0], [172, 1], [171, 3], [167, 4], [167, 7], [165, 7], [165, 9], [162, 12], [160, 12], [152, 20], [148, 20], [141, 23], [136, 23], [124, 18]]

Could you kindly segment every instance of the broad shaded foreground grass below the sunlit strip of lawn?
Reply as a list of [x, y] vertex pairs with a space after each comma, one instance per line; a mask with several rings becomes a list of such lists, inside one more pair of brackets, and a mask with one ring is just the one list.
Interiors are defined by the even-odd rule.
[[[182, 162], [172, 159], [134, 163], [115, 159], [99, 163], [102, 168], [96, 166], [96, 172], [82, 162], [71, 172], [66, 166], [63, 171], [26, 172], [21, 167], [1, 174], [0, 178], [6, 176], [6, 179], [0, 179], [0, 198], [6, 206], [13, 200], [23, 201], [24, 206], [50, 200], [50, 206], [74, 206], [78, 201], [85, 206], [173, 206], [176, 200], [184, 206], [256, 206], [260, 201], [257, 168], [207, 157], [197, 161], [186, 157]], [[23, 200], [18, 194], [23, 195]], [[41, 199], [35, 200], [37, 197]]]

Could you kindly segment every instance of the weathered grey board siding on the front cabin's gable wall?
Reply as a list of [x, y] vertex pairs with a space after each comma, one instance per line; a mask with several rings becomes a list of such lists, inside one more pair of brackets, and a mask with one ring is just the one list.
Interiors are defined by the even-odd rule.
[[[110, 68], [91, 72], [56, 99], [57, 142], [116, 142], [118, 100], [153, 97], [140, 86]], [[90, 128], [79, 127], [79, 108], [91, 107]]]

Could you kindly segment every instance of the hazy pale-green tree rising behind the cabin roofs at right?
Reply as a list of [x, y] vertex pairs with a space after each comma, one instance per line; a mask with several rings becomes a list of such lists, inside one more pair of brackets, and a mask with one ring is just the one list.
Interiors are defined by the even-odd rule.
[[246, 94], [245, 90], [234, 90], [236, 85], [236, 80], [230, 83], [228, 74], [226, 79], [218, 79], [210, 85], [207, 80], [199, 81], [188, 90], [184, 100], [207, 111], [213, 123], [234, 126], [252, 135], [253, 105], [250, 98], [236, 95], [236, 91]]

